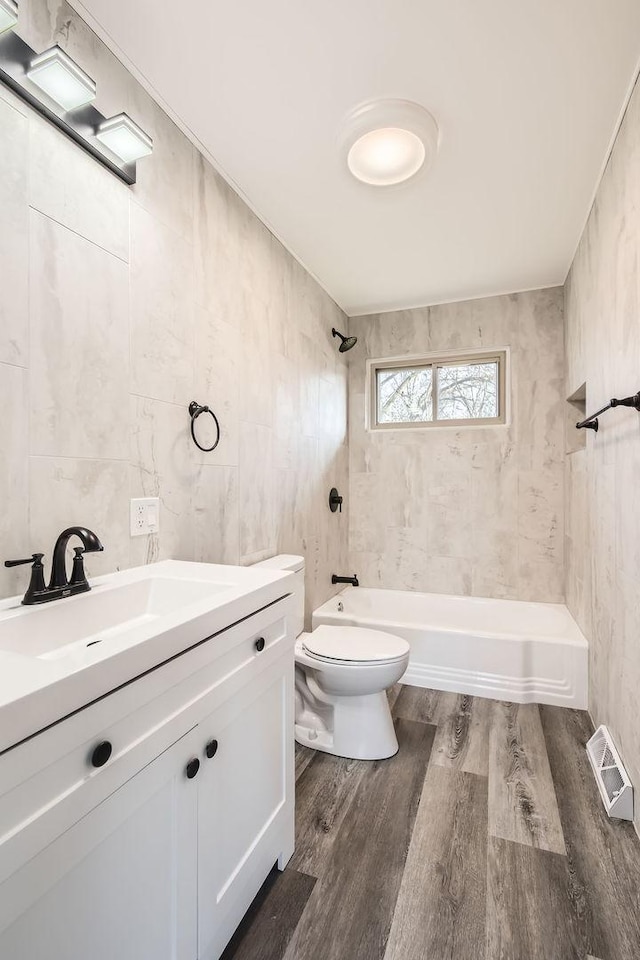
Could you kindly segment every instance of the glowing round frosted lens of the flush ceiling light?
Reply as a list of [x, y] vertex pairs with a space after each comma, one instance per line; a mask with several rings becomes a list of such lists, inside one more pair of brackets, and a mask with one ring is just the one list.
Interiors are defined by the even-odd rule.
[[356, 140], [349, 150], [347, 163], [358, 180], [389, 186], [417, 173], [424, 158], [424, 144], [415, 133], [400, 127], [384, 127]]

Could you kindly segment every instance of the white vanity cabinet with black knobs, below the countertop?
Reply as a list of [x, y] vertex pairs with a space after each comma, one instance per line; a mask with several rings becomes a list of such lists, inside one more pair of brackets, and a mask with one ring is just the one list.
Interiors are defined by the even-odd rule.
[[0, 960], [217, 960], [293, 853], [290, 612], [0, 756]]

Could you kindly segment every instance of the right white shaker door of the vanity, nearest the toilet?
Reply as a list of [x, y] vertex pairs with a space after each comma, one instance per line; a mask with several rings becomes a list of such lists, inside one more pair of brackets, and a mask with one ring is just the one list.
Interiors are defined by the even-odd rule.
[[[291, 659], [276, 661], [198, 727], [200, 960], [220, 956], [276, 860], [284, 866], [293, 853]], [[217, 749], [207, 758], [212, 740]]]

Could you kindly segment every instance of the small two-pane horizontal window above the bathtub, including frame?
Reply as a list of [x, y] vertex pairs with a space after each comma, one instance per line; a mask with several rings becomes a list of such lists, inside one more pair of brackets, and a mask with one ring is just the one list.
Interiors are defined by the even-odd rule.
[[370, 361], [371, 426], [505, 422], [506, 351]]

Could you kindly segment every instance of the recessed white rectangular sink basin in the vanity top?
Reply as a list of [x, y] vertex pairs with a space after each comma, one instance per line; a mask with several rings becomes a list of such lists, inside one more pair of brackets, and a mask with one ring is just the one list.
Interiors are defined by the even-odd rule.
[[91, 590], [69, 600], [31, 608], [29, 616], [0, 620], [0, 650], [58, 660], [79, 649], [120, 637], [142, 624], [203, 600], [220, 598], [229, 583], [149, 577]]

